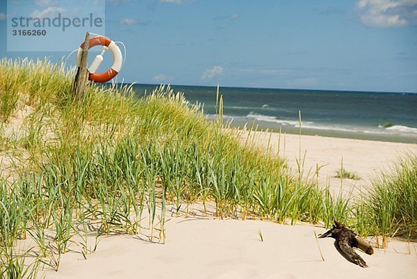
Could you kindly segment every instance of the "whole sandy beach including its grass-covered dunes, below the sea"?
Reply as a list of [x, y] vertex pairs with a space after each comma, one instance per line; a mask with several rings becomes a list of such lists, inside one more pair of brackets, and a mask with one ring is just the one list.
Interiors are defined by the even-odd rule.
[[[391, 142], [372, 141], [375, 135], [311, 136], [304, 129], [301, 136], [284, 128], [281, 134], [254, 132], [256, 125], [249, 133], [219, 125], [218, 117], [209, 121], [169, 86], [142, 99], [129, 87], [92, 86], [74, 102], [70, 90], [56, 90], [70, 88], [72, 78], [42, 63], [3, 61], [14, 87], [0, 93], [15, 99], [10, 97], [12, 109], [3, 113], [0, 127], [0, 273], [27, 268], [35, 278], [415, 277], [417, 160], [395, 169], [398, 160], [416, 158], [415, 143], [398, 142], [414, 142], [414, 130]], [[27, 69], [33, 79], [26, 79]], [[44, 90], [26, 88], [42, 81], [48, 81]], [[247, 91], [255, 96], [254, 89]], [[292, 121], [279, 119], [280, 109], [265, 104], [292, 93], [263, 93], [256, 107], [271, 114], [264, 120]], [[344, 94], [352, 99], [353, 93]], [[291, 104], [305, 97], [300, 90], [297, 95]], [[236, 106], [244, 120], [253, 109], [246, 105]], [[361, 123], [360, 116], [343, 129], [378, 124]], [[413, 122], [406, 116], [399, 115], [393, 127]], [[299, 124], [288, 122], [293, 129]], [[375, 129], [395, 137], [389, 128]], [[355, 179], [336, 177], [342, 164]], [[401, 180], [367, 200], [382, 171]], [[335, 218], [371, 236], [366, 240], [375, 254], [357, 252], [367, 269], [338, 253], [334, 239], [316, 239]]]

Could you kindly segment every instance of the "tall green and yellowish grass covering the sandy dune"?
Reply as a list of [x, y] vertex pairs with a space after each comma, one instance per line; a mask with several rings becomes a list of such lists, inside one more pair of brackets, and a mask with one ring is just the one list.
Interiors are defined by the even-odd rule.
[[[147, 230], [151, 241], [164, 242], [167, 208], [187, 216], [195, 202], [204, 210], [215, 205], [218, 218], [322, 221], [327, 228], [336, 218], [362, 234], [415, 235], [407, 223], [416, 222], [415, 160], [408, 178], [414, 196], [402, 209], [414, 212], [382, 225], [371, 211], [382, 193], [354, 204], [293, 175], [251, 136], [242, 144], [239, 131], [224, 129], [219, 95], [220, 117], [209, 122], [198, 104], [169, 87], [138, 99], [129, 86], [91, 85], [77, 99], [73, 77], [74, 70], [47, 61], [0, 62], [0, 164], [13, 157], [0, 173], [0, 278], [36, 276], [41, 266], [58, 270], [73, 239], [81, 239], [85, 258], [102, 234]], [[10, 129], [19, 118], [23, 133]], [[28, 251], [17, 244], [28, 237], [37, 257], [25, 262]]]

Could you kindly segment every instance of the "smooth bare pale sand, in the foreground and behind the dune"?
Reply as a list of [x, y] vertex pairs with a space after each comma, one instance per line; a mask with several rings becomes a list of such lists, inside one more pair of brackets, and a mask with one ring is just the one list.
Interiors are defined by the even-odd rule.
[[[389, 161], [415, 152], [416, 145], [303, 136], [302, 150], [307, 150], [306, 168], [326, 164], [320, 181], [329, 177], [336, 188], [340, 180], [332, 176], [341, 157], [347, 170], [363, 177], [357, 183], [365, 183]], [[298, 137], [287, 135], [285, 154], [293, 166], [297, 153]], [[166, 223], [166, 244], [149, 242], [148, 234], [101, 237], [88, 260], [67, 253], [60, 270], [47, 271], [47, 278], [416, 278], [417, 244], [391, 240], [388, 250], [375, 248], [372, 256], [359, 251], [369, 266], [362, 269], [347, 262], [330, 238], [318, 239], [323, 262], [313, 230], [325, 232], [311, 225], [172, 218]], [[70, 248], [81, 250], [76, 244]]]

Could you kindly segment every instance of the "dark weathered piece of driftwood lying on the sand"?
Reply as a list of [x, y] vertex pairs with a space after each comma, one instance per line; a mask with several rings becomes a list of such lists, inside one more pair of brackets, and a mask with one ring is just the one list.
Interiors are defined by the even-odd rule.
[[336, 239], [334, 246], [339, 253], [345, 257], [346, 260], [357, 264], [361, 267], [368, 267], [365, 260], [358, 255], [353, 248], [359, 248], [368, 255], [374, 253], [373, 248], [366, 243], [365, 240], [361, 239], [352, 230], [349, 230], [345, 225], [334, 221], [332, 230], [328, 230], [324, 234], [321, 234], [318, 238], [332, 237]]

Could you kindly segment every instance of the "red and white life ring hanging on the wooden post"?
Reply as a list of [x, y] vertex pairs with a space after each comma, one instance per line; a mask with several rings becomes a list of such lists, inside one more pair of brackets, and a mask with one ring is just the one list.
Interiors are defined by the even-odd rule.
[[[92, 62], [90, 68], [88, 69], [89, 79], [90, 81], [103, 83], [113, 79], [113, 77], [115, 77], [122, 69], [122, 51], [120, 51], [120, 48], [113, 40], [110, 40], [109, 38], [103, 36], [90, 38], [88, 49], [95, 47], [96, 45], [103, 46], [103, 51], [101, 52], [101, 54], [96, 56], [95, 61]], [[84, 43], [80, 45], [78, 53], [76, 54], [77, 67], [81, 65], [83, 46]], [[111, 53], [113, 54], [113, 65], [110, 69], [108, 69], [107, 72], [97, 74], [95, 71], [98, 69], [101, 61], [103, 61], [103, 54], [107, 49], [110, 49]]]

